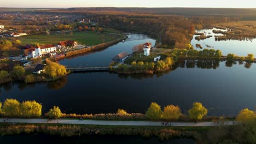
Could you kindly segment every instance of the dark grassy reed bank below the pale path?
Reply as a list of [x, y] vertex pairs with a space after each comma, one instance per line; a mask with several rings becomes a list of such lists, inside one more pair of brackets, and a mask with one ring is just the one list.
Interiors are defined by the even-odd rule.
[[[238, 131], [237, 131], [238, 130]], [[248, 131], [247, 131], [248, 132]], [[196, 143], [250, 143], [252, 138], [245, 133], [244, 127], [150, 127], [114, 125], [77, 125], [77, 124], [9, 124], [0, 123], [0, 134], [46, 134], [51, 136], [73, 137], [84, 135], [142, 136], [158, 137], [159, 140], [180, 138], [194, 139]], [[245, 136], [245, 137], [243, 137]], [[243, 137], [243, 139], [241, 139]]]

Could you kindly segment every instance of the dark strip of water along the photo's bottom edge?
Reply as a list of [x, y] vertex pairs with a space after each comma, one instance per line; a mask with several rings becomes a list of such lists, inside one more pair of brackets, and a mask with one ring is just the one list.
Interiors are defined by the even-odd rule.
[[159, 141], [156, 138], [143, 139], [140, 136], [81, 136], [81, 137], [57, 137], [49, 135], [16, 135], [16, 136], [3, 136], [0, 137], [1, 143], [19, 143], [26, 141], [30, 143], [95, 143], [95, 144], [119, 144], [119, 143], [147, 143], [147, 144], [194, 144], [195, 141], [191, 139], [174, 139], [170, 141]]

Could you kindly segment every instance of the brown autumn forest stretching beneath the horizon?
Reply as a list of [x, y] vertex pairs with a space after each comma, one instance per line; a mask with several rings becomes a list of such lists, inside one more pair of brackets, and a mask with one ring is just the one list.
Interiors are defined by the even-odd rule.
[[68, 8], [33, 13], [72, 14], [102, 27], [145, 31], [156, 35], [162, 47], [183, 49], [190, 44], [195, 29], [220, 22], [256, 20], [256, 9], [231, 8]]

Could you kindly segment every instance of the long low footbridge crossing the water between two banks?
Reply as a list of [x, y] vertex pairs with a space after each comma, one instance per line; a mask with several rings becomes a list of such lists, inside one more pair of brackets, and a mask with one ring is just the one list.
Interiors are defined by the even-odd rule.
[[89, 72], [89, 71], [109, 71], [109, 67], [77, 67], [77, 68], [66, 68], [67, 70], [74, 72]]

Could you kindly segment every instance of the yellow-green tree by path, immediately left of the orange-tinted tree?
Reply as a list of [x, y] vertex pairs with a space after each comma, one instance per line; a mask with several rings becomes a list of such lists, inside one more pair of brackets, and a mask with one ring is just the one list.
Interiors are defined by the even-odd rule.
[[156, 103], [151, 103], [146, 112], [146, 117], [149, 119], [160, 119], [162, 114], [161, 106]]

